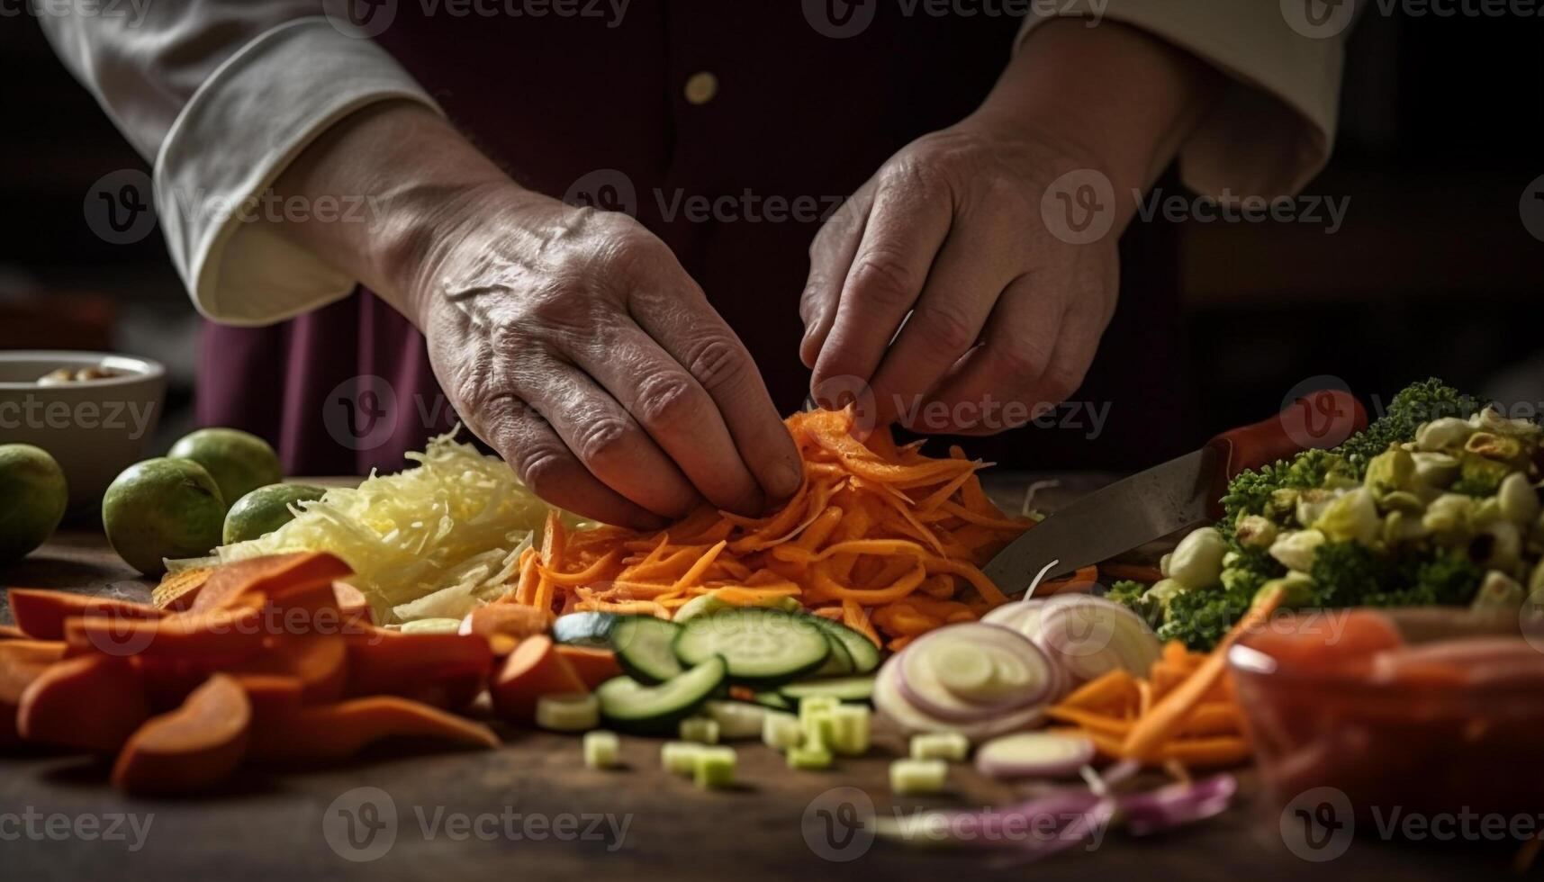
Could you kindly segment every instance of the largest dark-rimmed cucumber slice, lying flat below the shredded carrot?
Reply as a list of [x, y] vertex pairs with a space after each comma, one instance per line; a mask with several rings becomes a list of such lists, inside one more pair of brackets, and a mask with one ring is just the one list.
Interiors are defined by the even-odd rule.
[[699, 616], [681, 626], [675, 653], [684, 664], [721, 655], [735, 683], [777, 686], [818, 670], [831, 656], [831, 643], [812, 618], [764, 607]]

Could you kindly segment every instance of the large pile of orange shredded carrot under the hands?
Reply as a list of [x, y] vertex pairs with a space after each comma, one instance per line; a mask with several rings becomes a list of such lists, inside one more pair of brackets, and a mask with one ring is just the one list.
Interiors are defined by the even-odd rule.
[[500, 599], [669, 618], [703, 595], [791, 596], [888, 649], [1007, 602], [979, 567], [1031, 522], [987, 499], [987, 463], [957, 449], [931, 459], [888, 431], [858, 440], [851, 411], [794, 414], [787, 429], [804, 480], [767, 516], [701, 507], [658, 533], [568, 533], [554, 514]]

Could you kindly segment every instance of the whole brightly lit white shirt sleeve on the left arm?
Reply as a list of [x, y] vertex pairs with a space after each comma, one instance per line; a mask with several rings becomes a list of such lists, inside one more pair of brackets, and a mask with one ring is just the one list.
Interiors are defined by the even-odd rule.
[[[435, 107], [315, 0], [181, 0], [42, 15], [54, 49], [154, 162], [167, 249], [204, 315], [269, 324], [355, 280], [276, 235], [269, 187], [321, 131], [386, 99]], [[435, 108], [437, 110], [437, 108]], [[317, 212], [323, 205], [312, 207]], [[340, 216], [361, 205], [338, 205]]]

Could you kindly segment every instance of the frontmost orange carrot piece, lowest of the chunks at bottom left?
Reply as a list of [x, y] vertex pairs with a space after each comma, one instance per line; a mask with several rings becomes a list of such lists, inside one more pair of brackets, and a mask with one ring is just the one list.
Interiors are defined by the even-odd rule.
[[252, 704], [232, 677], [216, 673], [181, 707], [147, 720], [113, 765], [113, 785], [131, 794], [185, 794], [232, 775], [247, 752]]

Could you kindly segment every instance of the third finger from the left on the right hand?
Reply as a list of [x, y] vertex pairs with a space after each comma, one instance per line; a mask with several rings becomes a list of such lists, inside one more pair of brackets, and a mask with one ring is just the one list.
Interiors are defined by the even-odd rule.
[[976, 346], [1013, 280], [1007, 263], [1016, 256], [1013, 249], [979, 233], [962, 235], [962, 229], [956, 226], [943, 243], [916, 309], [874, 374], [877, 425], [914, 408]]

